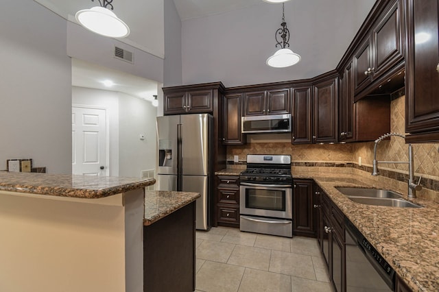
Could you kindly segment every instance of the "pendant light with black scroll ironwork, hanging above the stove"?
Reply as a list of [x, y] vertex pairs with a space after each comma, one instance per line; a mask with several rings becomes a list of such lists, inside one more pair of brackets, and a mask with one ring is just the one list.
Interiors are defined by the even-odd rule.
[[[281, 39], [278, 39], [278, 37]], [[275, 68], [283, 68], [287, 66], [292, 66], [300, 61], [300, 56], [294, 53], [289, 47], [289, 30], [287, 28], [287, 23], [285, 23], [285, 5], [282, 3], [282, 23], [281, 28], [276, 30], [276, 47], [281, 46], [273, 56], [267, 59], [268, 66]]]

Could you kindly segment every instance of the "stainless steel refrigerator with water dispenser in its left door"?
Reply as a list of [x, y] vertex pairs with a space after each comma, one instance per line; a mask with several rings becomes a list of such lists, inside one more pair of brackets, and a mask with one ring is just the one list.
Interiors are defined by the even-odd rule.
[[196, 202], [196, 228], [209, 230], [211, 189], [210, 114], [182, 114], [157, 117], [158, 191], [200, 193]]

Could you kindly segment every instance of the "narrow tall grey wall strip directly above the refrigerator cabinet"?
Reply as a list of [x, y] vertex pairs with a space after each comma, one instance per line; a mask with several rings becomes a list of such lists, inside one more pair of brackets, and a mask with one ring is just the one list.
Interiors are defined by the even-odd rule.
[[164, 86], [182, 84], [181, 21], [173, 0], [164, 1], [165, 60], [163, 61]]

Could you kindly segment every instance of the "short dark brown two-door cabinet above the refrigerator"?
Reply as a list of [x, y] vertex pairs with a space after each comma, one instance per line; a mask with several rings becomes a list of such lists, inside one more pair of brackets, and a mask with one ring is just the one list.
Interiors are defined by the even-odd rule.
[[165, 93], [165, 114], [196, 114], [211, 112], [213, 112], [213, 91], [210, 89]]

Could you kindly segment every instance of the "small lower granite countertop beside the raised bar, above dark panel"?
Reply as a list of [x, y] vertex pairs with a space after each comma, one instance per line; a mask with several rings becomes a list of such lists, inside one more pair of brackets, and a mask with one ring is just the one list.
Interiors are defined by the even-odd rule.
[[148, 226], [200, 197], [200, 193], [145, 191], [145, 220]]

